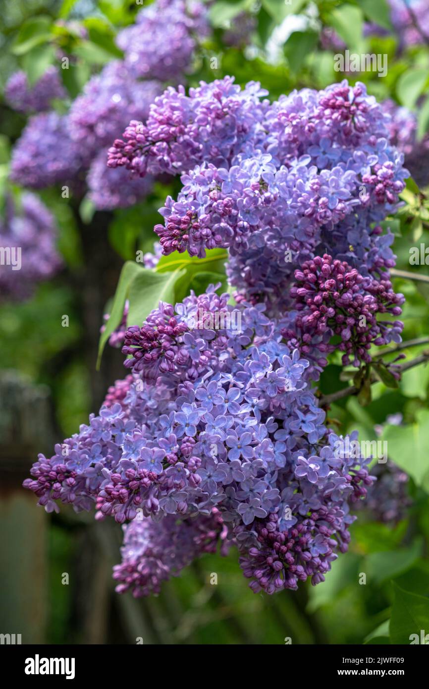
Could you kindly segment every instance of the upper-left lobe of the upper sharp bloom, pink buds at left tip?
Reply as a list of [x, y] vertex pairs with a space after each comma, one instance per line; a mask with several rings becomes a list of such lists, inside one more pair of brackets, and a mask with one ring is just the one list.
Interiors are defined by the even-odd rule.
[[231, 163], [260, 128], [268, 101], [259, 84], [244, 90], [230, 76], [198, 88], [167, 90], [151, 105], [147, 121], [132, 121], [123, 139], [109, 150], [110, 167], [124, 165], [144, 176], [147, 172], [182, 174], [207, 161]]

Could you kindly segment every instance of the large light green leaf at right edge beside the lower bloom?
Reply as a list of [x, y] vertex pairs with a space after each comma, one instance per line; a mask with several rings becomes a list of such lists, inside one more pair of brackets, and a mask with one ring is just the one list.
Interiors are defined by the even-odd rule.
[[381, 438], [388, 442], [388, 455], [429, 493], [429, 410], [419, 409], [409, 426], [387, 426]]

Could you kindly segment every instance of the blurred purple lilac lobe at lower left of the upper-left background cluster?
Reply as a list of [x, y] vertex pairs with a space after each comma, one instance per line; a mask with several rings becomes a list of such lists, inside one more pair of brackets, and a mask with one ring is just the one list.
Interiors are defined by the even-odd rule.
[[30, 189], [70, 185], [86, 160], [85, 148], [70, 138], [67, 116], [43, 112], [30, 118], [14, 146], [10, 176]]

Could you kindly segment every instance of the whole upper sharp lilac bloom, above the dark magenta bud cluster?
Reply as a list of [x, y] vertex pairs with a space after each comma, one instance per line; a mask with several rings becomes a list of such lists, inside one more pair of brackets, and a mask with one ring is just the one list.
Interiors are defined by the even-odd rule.
[[182, 175], [155, 228], [163, 252], [228, 248], [231, 284], [273, 315], [291, 307], [294, 271], [317, 255], [388, 279], [393, 235], [379, 223], [408, 176], [389, 141], [391, 115], [361, 83], [293, 91], [272, 104], [265, 95], [231, 77], [189, 96], [169, 88], [143, 125], [130, 123], [114, 142], [112, 167]]

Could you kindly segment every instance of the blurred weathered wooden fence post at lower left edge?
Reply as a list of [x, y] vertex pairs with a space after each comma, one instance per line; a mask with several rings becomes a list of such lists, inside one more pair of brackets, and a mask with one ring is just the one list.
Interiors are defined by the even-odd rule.
[[[23, 489], [53, 440], [50, 394], [17, 371], [0, 373], [0, 633], [43, 644], [47, 619], [46, 514]], [[3, 637], [2, 637], [3, 638]], [[13, 637], [12, 637], [13, 638]]]

